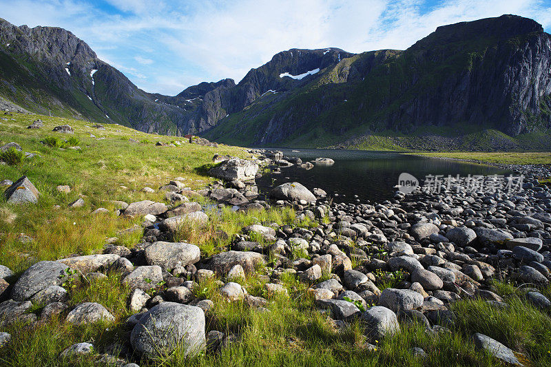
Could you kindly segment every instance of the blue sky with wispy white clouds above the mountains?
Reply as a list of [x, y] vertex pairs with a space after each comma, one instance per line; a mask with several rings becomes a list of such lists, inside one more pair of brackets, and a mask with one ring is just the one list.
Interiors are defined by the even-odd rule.
[[501, 14], [551, 30], [551, 0], [0, 0], [15, 25], [52, 25], [147, 92], [233, 78], [290, 48], [405, 49], [438, 25]]

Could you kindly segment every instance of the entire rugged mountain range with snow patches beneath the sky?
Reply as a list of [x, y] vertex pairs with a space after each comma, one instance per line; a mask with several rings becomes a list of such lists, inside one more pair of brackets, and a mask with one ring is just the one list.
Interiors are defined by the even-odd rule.
[[139, 90], [66, 30], [0, 20], [0, 95], [22, 107], [241, 145], [329, 145], [462, 125], [548, 132], [550, 63], [541, 25], [504, 15], [439, 27], [405, 51], [292, 49], [237, 85], [224, 79], [163, 96]]

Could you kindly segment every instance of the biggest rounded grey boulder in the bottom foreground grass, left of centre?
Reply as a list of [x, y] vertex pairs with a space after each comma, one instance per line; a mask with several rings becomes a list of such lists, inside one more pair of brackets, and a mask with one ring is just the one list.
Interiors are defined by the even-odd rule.
[[176, 348], [193, 356], [205, 348], [205, 313], [201, 308], [163, 302], [140, 317], [130, 344], [147, 357], [166, 357]]

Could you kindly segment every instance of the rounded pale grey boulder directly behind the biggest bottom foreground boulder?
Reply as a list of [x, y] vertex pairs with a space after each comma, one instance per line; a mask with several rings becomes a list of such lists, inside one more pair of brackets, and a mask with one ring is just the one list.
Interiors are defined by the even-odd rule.
[[145, 248], [145, 260], [149, 265], [158, 265], [166, 271], [176, 266], [188, 266], [199, 261], [200, 249], [186, 242], [158, 241]]

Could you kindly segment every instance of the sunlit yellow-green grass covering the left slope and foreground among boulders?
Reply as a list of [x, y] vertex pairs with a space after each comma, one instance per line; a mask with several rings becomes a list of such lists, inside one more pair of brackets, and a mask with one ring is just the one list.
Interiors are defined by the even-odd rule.
[[[157, 147], [157, 140], [169, 143], [174, 138], [153, 136], [117, 125], [105, 125], [105, 130], [87, 127], [84, 121], [45, 116], [14, 114], [0, 125], [1, 143], [14, 141], [24, 151], [33, 151], [40, 157], [24, 159], [19, 165], [0, 166], [0, 178], [17, 180], [27, 175], [41, 191], [37, 205], [17, 207], [0, 202], [0, 264], [17, 274], [13, 282], [30, 264], [39, 260], [55, 260], [75, 253], [101, 252], [105, 239], [116, 236], [119, 243], [132, 247], [141, 237], [141, 230], [121, 233], [139, 225], [135, 220], [114, 214], [92, 215], [96, 207], [114, 209], [107, 200], [163, 200], [162, 193], [142, 193], [145, 187], [159, 187], [181, 176], [192, 188], [206, 185], [210, 180], [198, 175], [197, 169], [217, 154], [247, 156], [236, 147]], [[34, 130], [25, 127], [40, 117], [45, 126]], [[14, 120], [10, 120], [14, 118]], [[47, 147], [41, 140], [46, 136], [67, 136], [52, 132], [56, 125], [68, 123], [81, 141], [81, 151]], [[105, 140], [96, 138], [105, 137]], [[130, 143], [129, 138], [144, 143]], [[57, 185], [70, 185], [69, 194], [56, 191]], [[70, 209], [67, 204], [82, 196], [85, 206]], [[205, 202], [203, 202], [205, 203]], [[54, 209], [60, 205], [59, 209]], [[230, 235], [254, 222], [277, 222], [304, 227], [313, 222], [295, 223], [291, 209], [235, 213], [229, 209], [211, 209], [207, 231], [183, 228], [177, 235], [200, 246], [202, 255], [210, 255], [227, 247], [228, 240], [216, 237], [220, 229]], [[30, 243], [19, 242], [20, 233], [30, 235]], [[270, 269], [240, 281], [251, 295], [267, 297], [264, 277]], [[131, 314], [126, 305], [129, 289], [121, 284], [121, 275], [109, 273], [107, 279], [97, 282], [75, 280], [67, 284], [69, 303], [98, 302], [114, 316], [114, 322], [88, 326], [70, 326], [61, 319], [52, 319], [27, 328], [14, 325], [2, 328], [12, 334], [10, 344], [0, 350], [3, 366], [93, 366], [91, 357], [63, 360], [62, 350], [76, 342], [92, 342], [99, 353], [114, 342], [125, 342], [129, 328], [125, 319]], [[218, 330], [236, 333], [240, 342], [220, 354], [202, 353], [189, 359], [181, 350], [158, 360], [136, 361], [141, 366], [499, 366], [487, 353], [475, 350], [470, 335], [485, 333], [526, 355], [528, 366], [551, 365], [551, 318], [548, 311], [530, 306], [514, 286], [496, 283], [495, 291], [510, 305], [509, 308], [491, 308], [481, 300], [464, 300], [454, 304], [457, 324], [451, 334], [431, 336], [419, 325], [402, 324], [399, 335], [371, 341], [376, 350], [366, 348], [366, 337], [360, 324], [353, 323], [342, 329], [324, 313], [320, 313], [305, 289], [292, 275], [282, 277], [282, 285], [289, 297], [271, 297], [267, 309], [257, 311], [242, 302], [223, 302], [216, 291], [216, 283], [199, 284], [196, 295], [214, 301], [214, 311], [207, 317], [207, 331]], [[377, 284], [381, 287], [384, 284]], [[161, 286], [162, 287], [162, 286]], [[158, 289], [163, 291], [163, 289]], [[542, 290], [550, 297], [551, 289]], [[39, 313], [41, 305], [32, 307]], [[411, 348], [424, 348], [422, 359], [411, 353]], [[103, 363], [106, 365], [105, 363]]]

